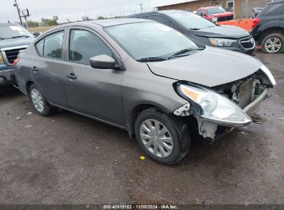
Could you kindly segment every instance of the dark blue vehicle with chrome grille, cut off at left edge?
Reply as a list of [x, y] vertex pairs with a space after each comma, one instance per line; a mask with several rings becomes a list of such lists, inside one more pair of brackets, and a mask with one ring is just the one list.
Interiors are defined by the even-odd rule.
[[17, 23], [0, 23], [0, 88], [16, 84], [13, 62], [34, 39]]

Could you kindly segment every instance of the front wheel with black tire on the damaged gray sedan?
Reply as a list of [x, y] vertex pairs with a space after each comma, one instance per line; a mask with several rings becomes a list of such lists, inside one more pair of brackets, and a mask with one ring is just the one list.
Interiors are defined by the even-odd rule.
[[[156, 135], [157, 133], [152, 131], [147, 123], [151, 123], [151, 128], [153, 129], [154, 127], [158, 128], [156, 131], [160, 131], [161, 133], [165, 131], [169, 132], [165, 132], [162, 135]], [[146, 130], [143, 125], [148, 129]], [[153, 135], [151, 132], [155, 134]], [[138, 115], [135, 121], [135, 136], [144, 153], [146, 153], [155, 162], [166, 165], [176, 164], [182, 160], [182, 158], [187, 155], [191, 142], [187, 124], [178, 120], [174, 116], [162, 113], [158, 108], [148, 108]], [[154, 137], [146, 139], [149, 136]], [[164, 139], [167, 139], [168, 142], [163, 143]], [[162, 149], [161, 147], [159, 148], [158, 144], [162, 146]], [[166, 144], [167, 146], [164, 146]], [[156, 147], [158, 149], [155, 149]]]

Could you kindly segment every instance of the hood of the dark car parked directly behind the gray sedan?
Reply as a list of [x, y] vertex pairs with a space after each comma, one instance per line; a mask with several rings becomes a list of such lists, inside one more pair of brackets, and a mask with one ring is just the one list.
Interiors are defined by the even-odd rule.
[[214, 38], [230, 38], [240, 39], [242, 37], [248, 37], [249, 32], [247, 30], [237, 26], [216, 26], [211, 28], [202, 28], [196, 30], [196, 36], [200, 37], [214, 37]]

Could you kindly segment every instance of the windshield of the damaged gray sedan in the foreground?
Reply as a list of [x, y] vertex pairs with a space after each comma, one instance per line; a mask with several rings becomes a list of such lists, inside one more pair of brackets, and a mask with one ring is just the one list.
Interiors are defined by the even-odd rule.
[[157, 22], [129, 23], [105, 28], [134, 59], [166, 57], [198, 46], [180, 32]]

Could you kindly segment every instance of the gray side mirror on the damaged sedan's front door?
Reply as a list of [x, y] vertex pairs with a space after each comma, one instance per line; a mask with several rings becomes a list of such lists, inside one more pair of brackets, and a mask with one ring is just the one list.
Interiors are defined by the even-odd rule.
[[115, 69], [117, 68], [115, 63], [115, 59], [108, 55], [97, 55], [90, 58], [90, 64], [93, 68]]

